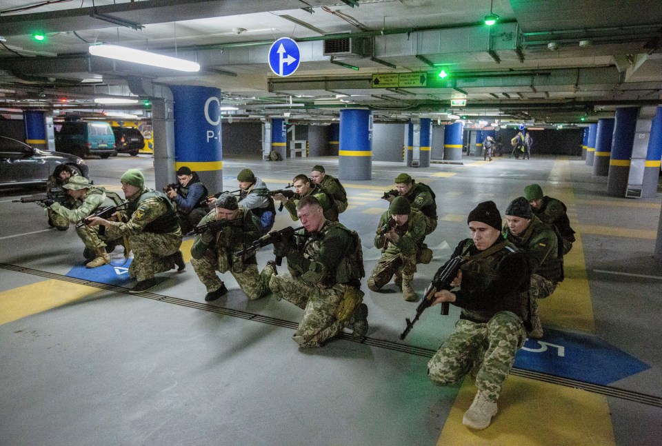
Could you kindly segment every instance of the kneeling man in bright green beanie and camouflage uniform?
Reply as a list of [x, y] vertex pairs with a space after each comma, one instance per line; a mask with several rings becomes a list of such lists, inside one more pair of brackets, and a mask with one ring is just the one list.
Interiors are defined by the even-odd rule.
[[185, 267], [181, 246], [181, 230], [177, 212], [167, 196], [145, 187], [145, 177], [138, 169], [129, 169], [121, 177], [122, 190], [128, 200], [128, 221], [108, 221], [90, 218], [90, 226], [104, 225], [109, 237], [128, 237], [134, 259], [129, 276], [138, 283], [129, 290], [140, 293], [159, 283], [159, 272], [178, 271]]

